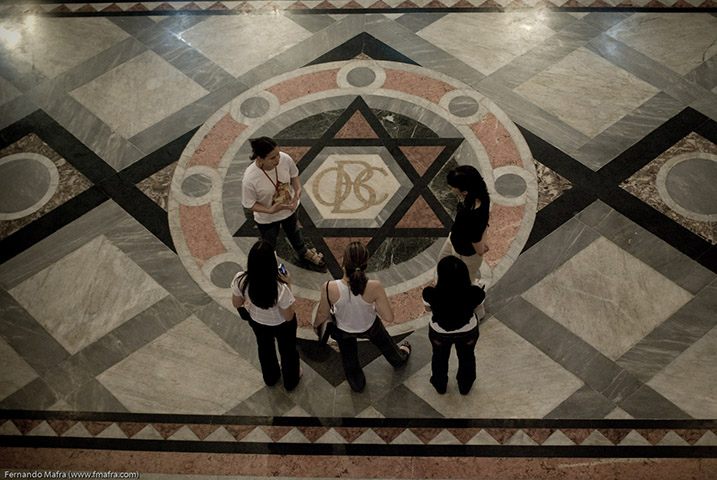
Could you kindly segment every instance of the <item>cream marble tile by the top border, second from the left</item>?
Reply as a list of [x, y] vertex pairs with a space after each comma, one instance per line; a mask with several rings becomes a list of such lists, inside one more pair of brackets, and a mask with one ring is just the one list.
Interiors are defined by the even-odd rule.
[[310, 36], [283, 15], [220, 15], [179, 38], [238, 77]]

